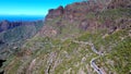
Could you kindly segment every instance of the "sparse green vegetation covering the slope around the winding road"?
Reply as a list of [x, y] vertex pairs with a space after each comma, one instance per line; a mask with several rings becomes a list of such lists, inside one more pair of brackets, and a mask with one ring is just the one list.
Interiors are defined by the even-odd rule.
[[[80, 8], [79, 5], [78, 9]], [[104, 53], [96, 64], [107, 74], [130, 74], [131, 27], [120, 26], [131, 24], [128, 21], [131, 17], [130, 10], [120, 8], [106, 9], [97, 14], [90, 12], [82, 21], [93, 20], [98, 26], [84, 23], [84, 26], [87, 25], [85, 30], [80, 28], [81, 20], [71, 22], [64, 15], [47, 21], [46, 25], [53, 27], [58, 34], [53, 37], [35, 36], [28, 39], [20, 48], [21, 51], [9, 57], [1, 70], [5, 74], [96, 74], [91, 60], [97, 54], [92, 51], [91, 46], [74, 42], [76, 40], [91, 42], [96, 50]], [[127, 21], [119, 22], [121, 17]]]

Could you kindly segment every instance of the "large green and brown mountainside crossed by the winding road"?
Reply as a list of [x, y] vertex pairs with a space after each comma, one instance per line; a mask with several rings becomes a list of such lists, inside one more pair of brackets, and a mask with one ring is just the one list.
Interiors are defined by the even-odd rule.
[[49, 10], [41, 29], [10, 55], [0, 71], [130, 74], [130, 0], [88, 0]]

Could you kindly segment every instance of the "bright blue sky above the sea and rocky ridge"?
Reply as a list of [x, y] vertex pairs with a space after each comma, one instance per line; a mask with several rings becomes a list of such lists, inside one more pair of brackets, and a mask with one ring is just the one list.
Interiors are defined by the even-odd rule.
[[80, 0], [0, 0], [0, 15], [46, 15], [49, 9]]

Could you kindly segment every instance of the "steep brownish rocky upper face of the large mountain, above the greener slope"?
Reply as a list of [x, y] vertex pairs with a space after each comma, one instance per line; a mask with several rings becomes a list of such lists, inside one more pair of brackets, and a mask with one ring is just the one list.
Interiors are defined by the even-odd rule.
[[[119, 20], [122, 22], [128, 20], [130, 22], [130, 4], [129, 0], [124, 2], [123, 0], [90, 0], [87, 2], [68, 4], [66, 8], [51, 9], [46, 16], [45, 26], [38, 35], [55, 37], [64, 34], [71, 37], [75, 30], [78, 33], [83, 30], [94, 32], [96, 28], [107, 29], [110, 34], [117, 28], [127, 27], [127, 24], [122, 26], [123, 24], [118, 25], [117, 23]], [[114, 8], [111, 9], [110, 7]], [[128, 8], [129, 10], [127, 10]], [[64, 30], [69, 26], [74, 30], [70, 28], [69, 32]]]

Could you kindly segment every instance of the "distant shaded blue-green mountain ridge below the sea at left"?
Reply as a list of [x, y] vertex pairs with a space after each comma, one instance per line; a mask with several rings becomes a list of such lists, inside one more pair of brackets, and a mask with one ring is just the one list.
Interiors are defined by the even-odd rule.
[[26, 39], [32, 38], [44, 25], [43, 21], [34, 22], [0, 22], [0, 59], [17, 51]]

